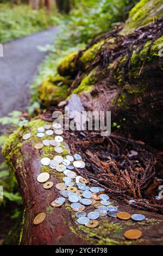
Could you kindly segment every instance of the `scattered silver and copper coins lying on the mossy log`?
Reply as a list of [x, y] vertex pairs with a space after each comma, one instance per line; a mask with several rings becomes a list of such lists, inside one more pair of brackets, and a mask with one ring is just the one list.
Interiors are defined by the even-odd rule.
[[[38, 127], [36, 134], [39, 138], [46, 135], [56, 135], [54, 139], [43, 139], [42, 143], [35, 144], [35, 149], [42, 149], [44, 146], [54, 147], [55, 156], [53, 159], [42, 157], [40, 162], [42, 166], [49, 166], [49, 168], [64, 174], [62, 182], [55, 184], [60, 196], [51, 203], [51, 206], [58, 208], [67, 200], [70, 203], [71, 209], [76, 212], [77, 223], [85, 225], [88, 228], [96, 228], [99, 225], [98, 219], [102, 216], [109, 216], [125, 221], [130, 219], [133, 221], [145, 220], [144, 215], [130, 215], [128, 212], [118, 211], [117, 206], [111, 205], [109, 195], [104, 193], [105, 189], [103, 187], [89, 186], [89, 180], [77, 175], [75, 169], [85, 168], [85, 162], [82, 160], [80, 154], [66, 155], [65, 157], [56, 155], [56, 153], [61, 154], [63, 152], [61, 148], [61, 143], [64, 141], [64, 138], [61, 136], [63, 133], [61, 124], [54, 123], [52, 126], [47, 124], [43, 127]], [[29, 139], [30, 136], [30, 133], [26, 133], [23, 135], [23, 139]], [[46, 190], [54, 185], [49, 179], [50, 175], [47, 172], [43, 172], [37, 176], [37, 181], [43, 183], [43, 188]], [[130, 201], [132, 201], [130, 203], [134, 203], [134, 200]], [[93, 210], [86, 213], [85, 210], [90, 205], [93, 207]], [[45, 217], [46, 214], [43, 212], [37, 215], [34, 219], [34, 224], [40, 224]], [[139, 229], [130, 229], [124, 233], [124, 237], [127, 239], [138, 239], [141, 235], [142, 233]]]

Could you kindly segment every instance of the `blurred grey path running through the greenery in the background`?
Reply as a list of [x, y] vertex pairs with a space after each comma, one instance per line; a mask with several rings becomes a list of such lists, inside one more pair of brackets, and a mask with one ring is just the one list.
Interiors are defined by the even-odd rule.
[[52, 44], [56, 34], [57, 27], [52, 27], [4, 44], [4, 57], [0, 58], [0, 117], [28, 105], [29, 85], [46, 55], [37, 46]]

